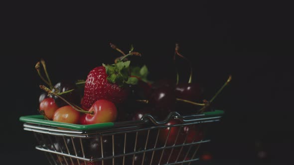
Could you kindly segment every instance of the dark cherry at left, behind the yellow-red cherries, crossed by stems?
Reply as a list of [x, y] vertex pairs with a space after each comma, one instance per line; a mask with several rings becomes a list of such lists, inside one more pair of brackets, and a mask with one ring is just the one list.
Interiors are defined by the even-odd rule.
[[[52, 92], [55, 92], [56, 89], [59, 91], [59, 93], [74, 89], [71, 92], [62, 94], [62, 97], [65, 98], [67, 101], [74, 103], [76, 105], [80, 104], [81, 99], [80, 99], [80, 95], [79, 95], [79, 91], [77, 89], [76, 83], [71, 81], [61, 81], [55, 84], [54, 88], [52, 89]], [[50, 95], [50, 97], [54, 98], [56, 104], [59, 107], [68, 105], [66, 102], [64, 102], [62, 99], [60, 99], [57, 96]]]

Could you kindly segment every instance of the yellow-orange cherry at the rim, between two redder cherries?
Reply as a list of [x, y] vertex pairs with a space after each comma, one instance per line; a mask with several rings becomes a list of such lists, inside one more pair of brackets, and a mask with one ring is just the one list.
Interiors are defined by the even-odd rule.
[[70, 105], [58, 108], [53, 114], [53, 121], [78, 124], [80, 112], [73, 109]]

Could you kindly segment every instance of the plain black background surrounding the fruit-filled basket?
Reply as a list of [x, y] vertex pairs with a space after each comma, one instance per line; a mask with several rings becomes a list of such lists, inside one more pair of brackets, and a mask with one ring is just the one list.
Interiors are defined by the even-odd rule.
[[[224, 109], [226, 115], [208, 147], [212, 163], [293, 164], [294, 68], [289, 5], [208, 1], [199, 5], [157, 4], [146, 6], [145, 12], [141, 5], [122, 9], [124, 12], [117, 6], [113, 7], [118, 14], [110, 18], [106, 15], [112, 12], [102, 12], [101, 7], [95, 11], [102, 14], [74, 10], [54, 18], [52, 10], [44, 8], [38, 12], [18, 10], [21, 4], [14, 6], [20, 12], [5, 12], [1, 38], [22, 40], [7, 40], [0, 47], [1, 160], [46, 163], [43, 154], [34, 149], [34, 137], [23, 131], [18, 121], [20, 116], [37, 114], [41, 81], [34, 65], [40, 58], [46, 60], [55, 83], [85, 79], [94, 67], [120, 56], [109, 42], [125, 51], [134, 44], [143, 54], [150, 78], [157, 80], [173, 75], [171, 57], [178, 42], [182, 54], [193, 64], [194, 80], [204, 85], [208, 96], [228, 75], [233, 76], [215, 100], [215, 107]], [[86, 16], [80, 15], [82, 11]], [[94, 40], [27, 40], [60, 38]], [[188, 68], [184, 61], [179, 64], [181, 80], [185, 81]], [[257, 142], [268, 154], [265, 160], [257, 158]]]

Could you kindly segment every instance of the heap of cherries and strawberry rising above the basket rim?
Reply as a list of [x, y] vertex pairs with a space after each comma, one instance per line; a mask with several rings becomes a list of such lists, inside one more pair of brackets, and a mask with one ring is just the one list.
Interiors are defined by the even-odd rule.
[[[44, 60], [37, 62], [35, 69], [47, 85], [39, 97], [39, 112], [47, 120], [72, 124], [96, 124], [141, 120], [145, 114], [151, 114], [157, 120], [163, 120], [171, 111], [183, 115], [211, 111], [211, 103], [228, 81], [210, 100], [201, 98], [203, 90], [198, 83], [192, 83], [192, 66], [189, 60], [179, 53], [176, 44], [175, 57], [189, 62], [191, 71], [187, 83], [176, 80], [147, 79], [147, 66], [132, 67], [132, 56], [141, 56], [133, 46], [128, 54], [111, 44], [111, 47], [123, 56], [115, 59], [111, 65], [98, 66], [89, 72], [87, 79], [78, 81], [62, 80], [52, 84]], [[45, 73], [42, 76], [41, 70]], [[201, 101], [202, 100], [202, 101]], [[201, 101], [201, 103], [198, 103]], [[183, 108], [184, 107], [184, 108]], [[177, 124], [177, 120], [168, 124]], [[188, 129], [188, 128], [187, 128]], [[172, 131], [171, 131], [172, 132]], [[176, 132], [176, 131], [175, 131]]]

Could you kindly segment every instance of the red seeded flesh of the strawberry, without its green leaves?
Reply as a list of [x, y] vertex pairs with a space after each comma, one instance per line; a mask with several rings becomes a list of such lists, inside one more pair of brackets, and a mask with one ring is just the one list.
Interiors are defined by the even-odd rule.
[[103, 66], [94, 68], [87, 77], [82, 106], [90, 108], [99, 99], [106, 99], [113, 103], [121, 103], [129, 95], [128, 87], [120, 87], [107, 80], [108, 75]]

